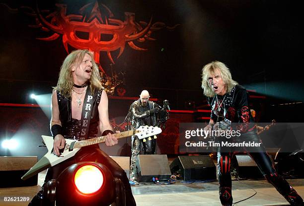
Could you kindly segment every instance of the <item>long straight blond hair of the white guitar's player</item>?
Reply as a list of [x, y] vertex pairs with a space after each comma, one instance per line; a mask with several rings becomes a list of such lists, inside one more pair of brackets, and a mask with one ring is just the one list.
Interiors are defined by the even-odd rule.
[[100, 75], [97, 64], [94, 61], [94, 55], [86, 49], [79, 49], [71, 52], [64, 60], [59, 73], [58, 83], [54, 89], [59, 90], [65, 97], [71, 97], [71, 90], [73, 87], [73, 66], [78, 67], [85, 54], [92, 58], [92, 74], [89, 79], [91, 92], [94, 94], [96, 88], [103, 88], [100, 83]]

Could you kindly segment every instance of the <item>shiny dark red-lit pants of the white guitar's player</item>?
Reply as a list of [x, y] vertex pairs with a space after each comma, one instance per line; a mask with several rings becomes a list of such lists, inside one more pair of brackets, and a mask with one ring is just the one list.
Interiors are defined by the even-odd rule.
[[[126, 206], [136, 206], [129, 179], [125, 171], [111, 157], [109, 157], [105, 152], [101, 151], [97, 144], [82, 147], [74, 157], [71, 157], [70, 159], [49, 168], [44, 183], [46, 184], [49, 180], [56, 179], [67, 167], [76, 162], [82, 161], [99, 162], [108, 167], [112, 172], [113, 177], [121, 179], [125, 186]], [[32, 199], [29, 206], [54, 206], [54, 203], [51, 203], [44, 197], [42, 187], [42, 190], [39, 191], [38, 194]]]

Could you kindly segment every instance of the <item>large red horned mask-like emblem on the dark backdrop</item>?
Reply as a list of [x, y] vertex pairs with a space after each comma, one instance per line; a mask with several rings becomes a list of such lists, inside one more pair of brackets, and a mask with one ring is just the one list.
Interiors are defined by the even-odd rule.
[[[37, 38], [44, 41], [53, 41], [62, 36], [64, 47], [69, 53], [68, 45], [76, 49], [88, 49], [94, 53], [95, 62], [100, 64], [100, 52], [106, 52], [109, 60], [114, 63], [111, 52], [119, 50], [119, 58], [126, 43], [135, 50], [147, 50], [136, 46], [135, 41], [144, 42], [155, 40], [151, 37], [153, 31], [166, 28], [173, 30], [179, 24], [168, 27], [162, 22], [152, 24], [145, 21], [136, 22], [135, 13], [125, 12], [125, 19], [115, 19], [114, 14], [104, 4], [88, 3], [79, 9], [78, 14], [67, 15], [67, 5], [56, 4], [58, 11], [40, 10], [37, 12], [31, 7], [22, 6], [19, 10], [36, 17], [36, 24], [30, 27], [41, 28], [53, 34], [46, 38]], [[12, 10], [12, 9], [11, 9]], [[101, 12], [101, 10], [103, 12]], [[104, 70], [100, 67], [100, 70]]]

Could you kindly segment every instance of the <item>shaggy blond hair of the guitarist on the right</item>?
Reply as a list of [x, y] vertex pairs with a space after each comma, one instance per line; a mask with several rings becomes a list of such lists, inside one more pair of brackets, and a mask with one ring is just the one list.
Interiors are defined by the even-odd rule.
[[213, 97], [215, 95], [214, 90], [209, 85], [208, 78], [210, 75], [214, 75], [216, 69], [219, 69], [221, 72], [227, 93], [231, 91], [234, 85], [238, 84], [232, 79], [230, 70], [224, 63], [219, 61], [211, 62], [202, 69], [202, 88], [204, 89], [204, 95], [207, 97]]

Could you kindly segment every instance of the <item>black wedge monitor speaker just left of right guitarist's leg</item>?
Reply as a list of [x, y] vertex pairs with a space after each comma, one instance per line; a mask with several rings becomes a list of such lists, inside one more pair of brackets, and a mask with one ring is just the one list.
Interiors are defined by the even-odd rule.
[[216, 180], [216, 166], [208, 155], [178, 156], [170, 164], [172, 174], [188, 180]]

